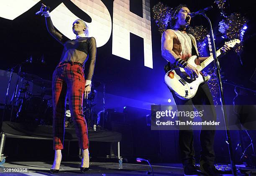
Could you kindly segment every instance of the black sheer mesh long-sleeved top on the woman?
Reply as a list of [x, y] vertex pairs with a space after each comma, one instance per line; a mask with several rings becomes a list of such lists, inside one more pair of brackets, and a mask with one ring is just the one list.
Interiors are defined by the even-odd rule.
[[73, 61], [81, 64], [88, 61], [89, 63], [87, 65], [89, 68], [86, 68], [87, 73], [85, 77], [87, 80], [92, 80], [97, 50], [95, 38], [79, 37], [69, 40], [69, 38], [59, 31], [56, 31], [50, 17], [46, 17], [46, 25], [49, 33], [64, 46], [60, 61]]

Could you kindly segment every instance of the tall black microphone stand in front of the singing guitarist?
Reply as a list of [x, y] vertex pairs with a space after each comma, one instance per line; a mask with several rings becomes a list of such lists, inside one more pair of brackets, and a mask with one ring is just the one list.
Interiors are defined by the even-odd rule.
[[233, 161], [233, 150], [232, 150], [232, 145], [231, 145], [231, 140], [230, 140], [230, 131], [229, 131], [229, 128], [227, 125], [227, 113], [226, 113], [226, 108], [225, 108], [223, 87], [222, 87], [221, 78], [220, 78], [220, 63], [218, 61], [217, 54], [216, 54], [212, 24], [211, 24], [210, 19], [205, 15], [205, 13], [200, 13], [200, 14], [208, 20], [209, 26], [210, 26], [210, 38], [211, 38], [211, 42], [212, 42], [212, 55], [213, 55], [213, 59], [214, 59], [214, 63], [215, 63], [215, 69], [216, 69], [216, 73], [217, 73], [217, 77], [218, 77], [218, 84], [219, 84], [219, 89], [220, 89], [220, 103], [221, 103], [221, 107], [223, 110], [223, 119], [224, 119], [226, 138], [227, 138], [226, 143], [228, 144], [228, 151], [229, 151], [229, 158], [230, 158], [232, 174], [236, 175], [236, 165]]

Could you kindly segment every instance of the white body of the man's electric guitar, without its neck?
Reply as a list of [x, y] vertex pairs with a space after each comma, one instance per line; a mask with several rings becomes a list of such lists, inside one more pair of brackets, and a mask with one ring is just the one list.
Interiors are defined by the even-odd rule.
[[[191, 56], [188, 59], [188, 63], [192, 66], [197, 67], [195, 64], [195, 59], [197, 56]], [[208, 79], [207, 79], [208, 80]], [[172, 69], [168, 71], [164, 76], [164, 81], [167, 86], [174, 90], [175, 94], [180, 99], [191, 99], [197, 93], [199, 84], [204, 82], [204, 78], [201, 74], [198, 75], [198, 78], [192, 81], [187, 75], [183, 68]]]

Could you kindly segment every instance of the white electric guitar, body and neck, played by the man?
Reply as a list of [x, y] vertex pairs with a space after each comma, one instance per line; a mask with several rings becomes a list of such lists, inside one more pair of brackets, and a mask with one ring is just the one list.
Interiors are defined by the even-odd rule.
[[[235, 39], [229, 42], [226, 42], [228, 47], [234, 47], [236, 43], [240, 43], [240, 40]], [[220, 56], [220, 49], [216, 52], [217, 57]], [[198, 71], [201, 71], [204, 69], [208, 64], [210, 64], [212, 61], [214, 61], [213, 57], [210, 56], [205, 61], [203, 61], [200, 65], [195, 64], [195, 59], [197, 56], [191, 56], [188, 59], [188, 63], [192, 66], [196, 67]], [[195, 96], [197, 93], [197, 89], [199, 84], [202, 82], [206, 82], [210, 79], [210, 76], [203, 77], [201, 74], [198, 75], [198, 78], [192, 80], [188, 76], [188, 74], [185, 72], [183, 68], [175, 68], [170, 71], [168, 71], [164, 76], [164, 81], [167, 84], [167, 86], [174, 90], [175, 94], [180, 99], [191, 99]]]

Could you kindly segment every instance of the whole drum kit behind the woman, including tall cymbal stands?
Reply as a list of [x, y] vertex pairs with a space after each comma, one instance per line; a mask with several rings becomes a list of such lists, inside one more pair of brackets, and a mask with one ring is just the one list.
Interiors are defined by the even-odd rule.
[[[15, 122], [26, 122], [32, 123], [36, 125], [52, 125], [53, 119], [53, 105], [52, 105], [52, 89], [51, 89], [51, 81], [42, 79], [36, 74], [33, 73], [34, 68], [37, 68], [38, 72], [46, 70], [46, 64], [44, 61], [44, 57], [42, 56], [41, 60], [37, 60], [32, 62], [32, 56], [27, 58], [26, 61], [22, 61], [20, 64], [13, 66], [10, 71], [10, 79], [8, 83], [4, 110], [3, 110], [3, 118], [7, 120], [10, 117], [10, 121]], [[27, 72], [21, 72], [21, 70], [30, 70]], [[13, 92], [13, 96], [10, 101], [10, 105], [8, 104], [9, 94], [10, 94], [10, 83], [13, 77], [14, 70], [17, 70], [18, 78], [15, 84], [15, 90]], [[21, 78], [21, 79], [20, 79]], [[19, 85], [21, 86], [19, 88]], [[36, 88], [40, 88], [40, 92], [32, 93], [31, 85], [36, 85]], [[94, 99], [97, 93], [97, 87], [103, 85], [103, 111], [105, 109], [105, 83], [103, 82], [92, 82], [91, 94], [86, 101], [83, 103], [83, 113], [87, 120], [88, 128], [93, 127], [95, 121], [97, 121], [97, 115], [92, 110], [95, 106]], [[39, 90], [38, 88], [38, 90]], [[66, 115], [65, 115], [65, 127], [73, 128], [74, 124], [72, 122], [72, 117], [69, 110], [69, 102], [66, 102]], [[10, 116], [7, 116], [7, 112], [10, 110]], [[7, 117], [7, 118], [5, 118]], [[96, 120], [95, 120], [96, 119]]]

